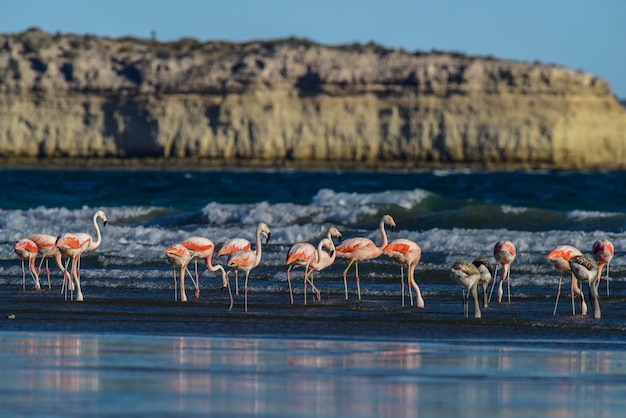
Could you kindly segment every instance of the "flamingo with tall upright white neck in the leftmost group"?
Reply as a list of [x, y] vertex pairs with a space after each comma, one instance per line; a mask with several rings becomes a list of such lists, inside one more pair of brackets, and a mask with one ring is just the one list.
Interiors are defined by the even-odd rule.
[[80, 258], [84, 252], [95, 250], [102, 243], [102, 235], [100, 234], [100, 227], [97, 222], [98, 219], [102, 220], [103, 228], [107, 224], [107, 217], [103, 211], [99, 210], [93, 215], [93, 227], [96, 230], [95, 240], [87, 233], [78, 232], [65, 233], [56, 241], [56, 246], [61, 252], [61, 255], [69, 257], [72, 260], [72, 278], [76, 286], [76, 301], [78, 302], [83, 300], [83, 292], [80, 288]]

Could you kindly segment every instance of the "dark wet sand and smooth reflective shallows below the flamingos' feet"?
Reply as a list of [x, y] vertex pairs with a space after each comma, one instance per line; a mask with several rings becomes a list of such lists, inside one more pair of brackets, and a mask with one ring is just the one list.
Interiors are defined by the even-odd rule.
[[[607, 319], [567, 299], [492, 301], [464, 318], [460, 294], [402, 307], [399, 294], [227, 296], [3, 286], [3, 416], [621, 416], [626, 304]], [[577, 301], [578, 303], [578, 301]], [[470, 309], [470, 313], [472, 310]]]

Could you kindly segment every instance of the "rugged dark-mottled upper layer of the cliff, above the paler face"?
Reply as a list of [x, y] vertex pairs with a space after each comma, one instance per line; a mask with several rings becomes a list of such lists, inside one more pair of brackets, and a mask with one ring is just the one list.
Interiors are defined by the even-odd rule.
[[374, 44], [324, 46], [303, 39], [175, 42], [38, 29], [0, 35], [0, 93], [611, 94], [608, 83], [556, 65]]

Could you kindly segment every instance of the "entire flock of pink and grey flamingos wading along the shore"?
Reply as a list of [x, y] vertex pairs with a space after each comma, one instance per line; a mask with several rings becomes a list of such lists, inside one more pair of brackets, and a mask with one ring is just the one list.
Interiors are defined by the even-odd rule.
[[[63, 275], [63, 286], [61, 292], [67, 300], [67, 292], [70, 299], [83, 301], [84, 295], [81, 289], [81, 256], [88, 251], [97, 249], [102, 243], [102, 234], [98, 220], [102, 222], [102, 227], [107, 225], [106, 214], [99, 210], [92, 218], [95, 238], [85, 232], [64, 233], [58, 237], [48, 234], [33, 234], [18, 240], [14, 245], [14, 251], [22, 263], [22, 287], [26, 288], [26, 271], [32, 278], [35, 289], [40, 290], [41, 269], [45, 264], [48, 288], [50, 284], [50, 270], [48, 259], [53, 258], [59, 271]], [[378, 232], [380, 233], [380, 245], [365, 237], [349, 238], [342, 242], [342, 234], [335, 227], [330, 227], [327, 234], [319, 241], [317, 246], [307, 242], [298, 242], [291, 246], [287, 252], [285, 264], [287, 265], [287, 282], [289, 284], [290, 303], [294, 303], [293, 290], [291, 286], [291, 270], [293, 268], [304, 268], [303, 290], [304, 304], [307, 304], [307, 288], [310, 285], [312, 292], [318, 300], [321, 300], [320, 291], [315, 287], [313, 273], [319, 272], [332, 265], [337, 258], [345, 259], [347, 267], [343, 271], [345, 299], [348, 299], [347, 274], [352, 265], [355, 269], [355, 280], [358, 299], [361, 300], [361, 285], [359, 278], [359, 262], [373, 260], [382, 254], [387, 255], [395, 263], [400, 265], [400, 287], [401, 303], [405, 306], [405, 279], [406, 287], [410, 296], [411, 306], [424, 308], [425, 303], [422, 292], [415, 280], [415, 269], [420, 262], [422, 250], [420, 246], [409, 239], [399, 238], [389, 242], [386, 233], [386, 226], [391, 231], [396, 227], [396, 223], [391, 215], [384, 215], [379, 222]], [[215, 244], [208, 238], [192, 236], [180, 243], [168, 247], [165, 251], [165, 258], [173, 267], [174, 279], [174, 300], [185, 302], [188, 300], [185, 292], [185, 277], [189, 276], [194, 288], [195, 296], [200, 296], [198, 261], [204, 261], [206, 269], [210, 272], [221, 272], [222, 289], [228, 289], [230, 299], [230, 309], [233, 308], [234, 300], [229, 283], [229, 273], [235, 272], [235, 292], [239, 294], [238, 275], [245, 273], [244, 283], [244, 310], [248, 312], [248, 283], [250, 272], [259, 266], [262, 260], [263, 241], [267, 244], [271, 237], [271, 231], [266, 223], [259, 223], [256, 228], [254, 249], [250, 241], [245, 238], [228, 239], [217, 251], [217, 257], [226, 257], [226, 268], [221, 264], [213, 263], [215, 254]], [[335, 240], [338, 245], [335, 245]], [[606, 294], [609, 294], [609, 266], [614, 257], [615, 249], [613, 244], [607, 240], [599, 240], [593, 244], [592, 256], [584, 255], [578, 248], [571, 245], [561, 245], [554, 248], [546, 255], [546, 259], [552, 262], [559, 271], [559, 282], [554, 305], [553, 315], [556, 315], [563, 273], [569, 272], [571, 278], [571, 299], [572, 314], [576, 314], [575, 298], [580, 297], [581, 314], [587, 314], [587, 304], [582, 288], [579, 284], [585, 284], [589, 289], [589, 300], [593, 303], [593, 316], [599, 319], [601, 310], [599, 304], [598, 289], [604, 266], [606, 265]], [[37, 255], [41, 255], [41, 260], [36, 267]], [[487, 258], [477, 257], [472, 262], [459, 260], [450, 269], [451, 279], [462, 287], [464, 315], [469, 316], [469, 295], [471, 293], [474, 300], [474, 317], [481, 318], [482, 310], [489, 307], [489, 301], [493, 294], [494, 287], [498, 284], [498, 302], [502, 303], [504, 296], [503, 285], [507, 283], [507, 302], [511, 303], [511, 264], [517, 255], [515, 245], [511, 241], [498, 241], [493, 248], [493, 256], [496, 261], [496, 268]], [[63, 257], [66, 258], [63, 264]], [[194, 274], [189, 271], [189, 264], [194, 262]], [[497, 265], [502, 266], [498, 280]], [[177, 277], [178, 274], [178, 277]], [[492, 283], [489, 297], [487, 296], [488, 284]], [[478, 287], [482, 287], [482, 310]], [[180, 298], [178, 297], [180, 290]], [[413, 299], [415, 292], [415, 301]], [[74, 295], [75, 292], [75, 295]]]

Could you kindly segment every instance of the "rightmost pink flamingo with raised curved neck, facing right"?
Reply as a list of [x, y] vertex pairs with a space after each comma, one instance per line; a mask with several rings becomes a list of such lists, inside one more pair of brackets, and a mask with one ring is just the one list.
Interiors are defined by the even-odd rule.
[[374, 244], [374, 242], [369, 238], [357, 237], [346, 240], [343, 244], [336, 248], [339, 257], [350, 260], [350, 262], [348, 263], [348, 267], [346, 267], [346, 269], [343, 271], [343, 285], [346, 292], [346, 300], [348, 299], [348, 282], [346, 280], [346, 275], [348, 274], [348, 270], [350, 270], [350, 267], [353, 263], [355, 265], [356, 286], [358, 290], [359, 300], [361, 300], [359, 261], [371, 260], [379, 257], [383, 253], [383, 248], [385, 248], [388, 244], [387, 234], [385, 233], [385, 225], [389, 225], [391, 227], [391, 230], [393, 231], [393, 229], [396, 227], [396, 222], [390, 215], [385, 215], [382, 217], [378, 226], [382, 238], [382, 244], [380, 244], [379, 247], [377, 247], [376, 244]]

